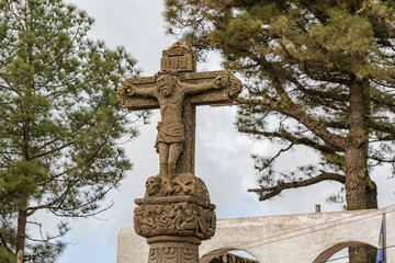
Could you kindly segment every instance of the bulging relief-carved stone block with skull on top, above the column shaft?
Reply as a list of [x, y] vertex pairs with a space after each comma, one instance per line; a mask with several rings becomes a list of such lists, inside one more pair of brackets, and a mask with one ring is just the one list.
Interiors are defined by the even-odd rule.
[[215, 205], [204, 182], [190, 173], [177, 174], [166, 195], [160, 176], [150, 176], [144, 198], [135, 199], [134, 226], [145, 237], [176, 236], [207, 240], [215, 232]]

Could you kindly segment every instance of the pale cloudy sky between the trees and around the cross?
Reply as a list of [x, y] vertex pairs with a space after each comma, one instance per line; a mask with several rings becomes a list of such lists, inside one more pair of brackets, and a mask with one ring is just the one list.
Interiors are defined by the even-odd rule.
[[[178, 41], [165, 34], [162, 0], [69, 0], [95, 19], [90, 33], [93, 39], [103, 39], [108, 46], [125, 46], [143, 69], [142, 76], [153, 76], [159, 70], [161, 52]], [[218, 70], [221, 57], [212, 55], [200, 71]], [[247, 188], [256, 187], [251, 152], [270, 155], [279, 146], [268, 141], [255, 141], [237, 133], [234, 125], [235, 107], [200, 107], [196, 124], [196, 175], [206, 183], [212, 203], [217, 206], [218, 218], [269, 216], [293, 213], [313, 213], [316, 204], [323, 211], [340, 210], [341, 207], [326, 203], [329, 194], [340, 185], [326, 183], [303, 190], [287, 191], [272, 201], [258, 202]], [[155, 112], [150, 125], [139, 128], [140, 136], [125, 146], [133, 162], [122, 186], [108, 195], [114, 206], [90, 219], [71, 220], [71, 230], [65, 241], [69, 242], [60, 263], [110, 263], [116, 262], [117, 233], [133, 224], [134, 199], [144, 196], [145, 180], [158, 173], [158, 156], [154, 149], [156, 123]], [[284, 165], [314, 160], [307, 150], [298, 150], [286, 157]], [[286, 163], [286, 164], [285, 164]], [[381, 178], [379, 181], [377, 178]], [[381, 207], [392, 204], [395, 180], [385, 180], [388, 170], [373, 174], [379, 185]], [[379, 233], [377, 233], [379, 235]]]

